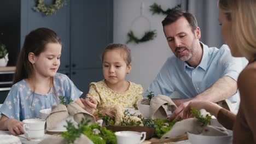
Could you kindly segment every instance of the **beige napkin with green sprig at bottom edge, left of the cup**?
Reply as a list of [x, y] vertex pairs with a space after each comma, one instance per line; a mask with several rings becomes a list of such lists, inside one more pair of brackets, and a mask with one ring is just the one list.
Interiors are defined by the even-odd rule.
[[[67, 140], [65, 140], [63, 137], [59, 137], [59, 136], [49, 137], [49, 138], [41, 141], [39, 144], [49, 144], [49, 143], [51, 143], [51, 144], [68, 144]], [[83, 144], [83, 143], [93, 144], [93, 142], [87, 136], [81, 134], [80, 137], [75, 139], [74, 144]]]

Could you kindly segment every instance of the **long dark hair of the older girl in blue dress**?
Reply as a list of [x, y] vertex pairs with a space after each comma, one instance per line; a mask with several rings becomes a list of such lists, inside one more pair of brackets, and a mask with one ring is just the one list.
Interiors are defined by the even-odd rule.
[[[61, 44], [59, 36], [49, 28], [37, 28], [26, 35], [24, 45], [19, 54], [18, 62], [16, 64], [16, 71], [14, 74], [13, 85], [23, 79], [28, 79], [33, 74], [33, 65], [28, 61], [28, 53], [33, 52], [35, 56], [39, 56], [41, 52], [44, 52], [45, 45], [49, 43]], [[61, 44], [62, 45], [62, 44]], [[51, 80], [51, 85], [55, 93], [55, 99], [57, 100], [57, 93], [54, 87], [54, 80]], [[33, 89], [33, 98], [34, 98]], [[33, 104], [33, 99], [32, 103]]]

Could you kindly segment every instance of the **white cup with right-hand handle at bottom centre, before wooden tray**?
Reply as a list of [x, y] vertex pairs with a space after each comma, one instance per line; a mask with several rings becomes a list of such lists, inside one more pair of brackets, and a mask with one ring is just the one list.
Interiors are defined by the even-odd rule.
[[117, 136], [118, 144], [139, 144], [146, 139], [146, 132], [118, 131], [115, 132], [115, 136]]

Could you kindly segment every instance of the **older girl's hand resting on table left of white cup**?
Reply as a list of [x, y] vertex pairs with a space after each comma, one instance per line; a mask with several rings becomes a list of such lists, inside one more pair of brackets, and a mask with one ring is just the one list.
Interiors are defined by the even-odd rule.
[[23, 122], [20, 122], [14, 118], [8, 118], [5, 121], [5, 124], [12, 135], [21, 135], [24, 133]]

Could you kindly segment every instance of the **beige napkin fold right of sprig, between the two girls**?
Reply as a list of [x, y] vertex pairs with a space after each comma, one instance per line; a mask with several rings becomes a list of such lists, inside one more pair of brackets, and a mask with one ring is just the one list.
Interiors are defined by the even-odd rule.
[[82, 107], [80, 107], [77, 103], [71, 103], [67, 105], [67, 110], [69, 115], [74, 118], [74, 121], [80, 123], [83, 118], [90, 120], [90, 123], [96, 123], [96, 119], [91, 113], [85, 111]]

